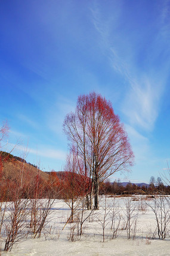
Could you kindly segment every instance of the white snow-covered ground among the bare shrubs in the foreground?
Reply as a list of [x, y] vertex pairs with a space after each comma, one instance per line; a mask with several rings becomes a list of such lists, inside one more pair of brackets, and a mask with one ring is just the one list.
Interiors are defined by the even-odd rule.
[[[151, 239], [154, 236], [156, 220], [153, 210], [144, 202], [154, 206], [154, 200], [141, 201], [141, 196], [115, 199], [115, 210], [117, 213], [113, 226], [114, 223], [115, 227], [118, 225], [119, 218], [120, 225], [118, 237], [112, 239], [113, 227], [112, 230], [110, 227], [112, 224], [114, 198], [102, 197], [100, 209], [92, 212], [88, 219], [86, 219], [82, 228], [83, 234], [81, 239], [79, 239], [77, 236], [78, 228], [80, 228], [78, 222], [68, 223], [64, 227], [70, 216], [69, 206], [62, 200], [55, 200], [51, 210], [50, 222], [46, 227], [48, 231], [51, 228], [50, 233], [45, 236], [42, 235], [41, 239], [29, 237], [27, 240], [14, 245], [12, 251], [8, 253], [3, 251], [4, 242], [2, 242], [1, 255], [170, 255], [170, 239], [168, 234], [166, 239], [160, 240], [156, 232], [155, 239]], [[127, 231], [125, 230], [126, 206], [128, 205], [132, 209], [131, 239], [127, 238]], [[134, 206], [135, 209], [133, 208]], [[81, 212], [80, 209], [80, 218]], [[85, 211], [83, 218], [89, 215], [89, 213], [90, 211]], [[104, 215], [106, 216], [106, 227], [104, 230], [105, 241], [103, 242]], [[62, 230], [63, 227], [64, 230]], [[169, 225], [168, 228], [170, 230]], [[72, 239], [70, 239], [71, 236]]]

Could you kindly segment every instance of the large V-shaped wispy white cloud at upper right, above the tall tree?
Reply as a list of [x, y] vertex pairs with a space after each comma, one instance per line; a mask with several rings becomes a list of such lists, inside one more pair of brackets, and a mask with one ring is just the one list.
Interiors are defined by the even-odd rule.
[[[166, 39], [169, 37], [169, 1], [165, 2], [159, 13], [156, 24], [156, 34], [150, 37], [146, 49], [141, 50], [139, 43], [145, 40], [138, 31], [138, 41], [133, 40], [133, 32], [127, 35], [125, 30], [118, 31], [122, 16], [120, 10], [114, 20], [107, 17], [102, 19], [102, 10], [96, 7], [92, 10], [95, 29], [101, 36], [105, 54], [110, 60], [113, 70], [118, 72], [125, 80], [126, 92], [122, 95], [122, 112], [127, 117], [129, 124], [137, 125], [146, 130], [152, 130], [159, 115], [159, 107], [169, 76], [169, 50]], [[166, 22], [165, 22], [166, 21]], [[124, 20], [124, 22], [126, 22]], [[134, 20], [135, 22], [135, 20]], [[160, 34], [164, 34], [161, 38]], [[126, 39], [125, 39], [126, 38]], [[164, 51], [165, 58], [162, 56]], [[138, 59], [143, 59], [142, 65]], [[168, 56], [167, 56], [168, 55]]]

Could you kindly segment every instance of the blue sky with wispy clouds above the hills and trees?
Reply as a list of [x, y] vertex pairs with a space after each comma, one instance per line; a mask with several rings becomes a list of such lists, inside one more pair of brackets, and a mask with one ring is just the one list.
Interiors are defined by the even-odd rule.
[[170, 1], [0, 1], [0, 123], [8, 148], [62, 170], [63, 120], [95, 91], [125, 124], [135, 165], [112, 179], [149, 182], [170, 158]]

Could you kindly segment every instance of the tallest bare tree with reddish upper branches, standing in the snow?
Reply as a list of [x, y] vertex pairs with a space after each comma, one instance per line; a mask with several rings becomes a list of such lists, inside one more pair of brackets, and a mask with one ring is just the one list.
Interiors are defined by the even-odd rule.
[[[91, 178], [91, 197], [98, 209], [100, 182], [134, 160], [128, 137], [112, 104], [95, 92], [78, 97], [75, 113], [66, 116], [64, 132], [84, 160], [85, 176]], [[90, 197], [90, 201], [91, 201]]]

